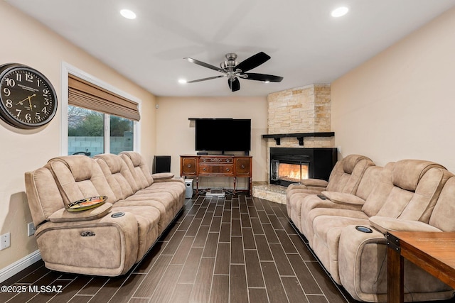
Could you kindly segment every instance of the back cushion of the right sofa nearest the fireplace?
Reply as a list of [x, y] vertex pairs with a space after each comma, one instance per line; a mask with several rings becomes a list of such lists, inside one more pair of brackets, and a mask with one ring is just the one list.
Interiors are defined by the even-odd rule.
[[373, 165], [375, 163], [363, 155], [346, 156], [333, 167], [326, 190], [355, 194], [363, 173]]

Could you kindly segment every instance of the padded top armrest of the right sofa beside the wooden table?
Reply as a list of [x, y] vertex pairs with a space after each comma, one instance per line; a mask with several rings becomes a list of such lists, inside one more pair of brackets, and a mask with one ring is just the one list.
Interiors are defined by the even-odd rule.
[[384, 234], [387, 231], [441, 231], [439, 228], [421, 221], [387, 218], [385, 216], [370, 217], [370, 226]]

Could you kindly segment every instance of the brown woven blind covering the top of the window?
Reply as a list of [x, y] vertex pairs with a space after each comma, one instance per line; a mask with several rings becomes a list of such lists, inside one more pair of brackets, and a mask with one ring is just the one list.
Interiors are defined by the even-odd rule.
[[68, 75], [68, 104], [139, 121], [137, 102], [114, 94], [74, 75]]

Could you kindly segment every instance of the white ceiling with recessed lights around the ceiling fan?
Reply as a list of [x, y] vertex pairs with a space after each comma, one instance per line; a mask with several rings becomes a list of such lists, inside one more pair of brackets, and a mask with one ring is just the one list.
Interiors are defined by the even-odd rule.
[[[455, 0], [5, 0], [156, 96], [265, 96], [330, 83], [455, 6]], [[331, 17], [338, 6], [350, 11]], [[131, 9], [137, 18], [120, 16]], [[226, 78], [183, 57], [219, 66], [272, 57], [250, 72], [284, 77], [264, 84]]]

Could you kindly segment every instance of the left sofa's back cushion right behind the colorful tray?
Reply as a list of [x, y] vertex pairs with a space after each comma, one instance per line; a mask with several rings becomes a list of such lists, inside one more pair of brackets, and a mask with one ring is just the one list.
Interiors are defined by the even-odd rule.
[[86, 155], [53, 158], [46, 165], [53, 173], [65, 206], [80, 199], [107, 196], [107, 202], [118, 199], [107, 183], [100, 165]]

